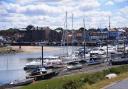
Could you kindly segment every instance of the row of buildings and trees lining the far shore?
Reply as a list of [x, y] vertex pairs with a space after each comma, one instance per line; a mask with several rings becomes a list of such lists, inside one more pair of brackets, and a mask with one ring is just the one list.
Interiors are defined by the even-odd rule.
[[110, 43], [115, 44], [117, 39], [120, 40], [124, 36], [128, 39], [127, 35], [128, 28], [111, 28], [108, 30], [107, 28], [84, 29], [81, 27], [69, 30], [28, 25], [26, 28], [9, 28], [0, 31], [0, 36], [3, 36], [8, 42], [66, 42], [67, 44], [75, 43], [79, 45], [83, 43], [84, 39], [87, 45], [97, 45], [101, 41], [106, 44], [107, 39]]

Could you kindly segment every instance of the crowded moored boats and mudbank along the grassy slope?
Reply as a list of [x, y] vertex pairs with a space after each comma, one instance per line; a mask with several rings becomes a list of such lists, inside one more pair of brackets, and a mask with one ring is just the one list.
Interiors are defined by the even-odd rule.
[[[105, 49], [106, 48], [105, 46], [86, 48], [88, 50], [85, 54], [86, 60], [84, 59], [84, 55], [83, 55], [84, 48], [81, 47], [74, 47], [74, 48], [70, 47], [70, 48], [71, 49], [68, 50], [68, 52], [69, 53], [73, 52], [70, 56], [66, 55], [67, 50], [63, 52], [63, 49], [65, 49], [65, 47], [57, 48], [56, 53], [58, 51], [59, 54], [55, 54], [54, 56], [50, 56], [50, 55], [46, 56], [45, 52], [49, 52], [49, 51], [44, 51], [43, 54], [40, 51], [39, 55], [40, 57], [41, 55], [43, 55], [42, 56], [43, 59], [38, 57], [29, 58], [27, 59], [28, 62], [21, 67], [22, 70], [26, 72], [24, 76], [26, 80], [25, 79], [13, 80], [13, 81], [10, 80], [9, 81], [10, 84], [9, 85], [5, 84], [5, 85], [7, 87], [21, 86], [21, 85], [30, 84], [33, 82], [33, 80], [35, 81], [46, 80], [57, 76], [65, 76], [75, 73], [92, 73], [92, 72], [102, 71], [111, 67], [117, 67], [115, 65], [127, 64], [126, 62], [127, 59], [125, 57], [123, 57], [125, 59], [122, 59], [122, 61], [125, 61], [124, 63], [120, 63], [121, 60], [119, 60], [118, 64], [113, 64], [114, 61], [112, 61], [111, 58], [119, 58], [116, 54], [117, 51], [113, 46], [108, 47], [109, 48], [108, 58], [106, 58], [107, 50]], [[66, 56], [62, 55], [60, 52], [62, 52], [62, 54], [65, 53]], [[114, 57], [113, 54], [115, 54], [116, 56]], [[120, 55], [123, 55], [123, 52]], [[125, 55], [127, 56], [127, 54]]]

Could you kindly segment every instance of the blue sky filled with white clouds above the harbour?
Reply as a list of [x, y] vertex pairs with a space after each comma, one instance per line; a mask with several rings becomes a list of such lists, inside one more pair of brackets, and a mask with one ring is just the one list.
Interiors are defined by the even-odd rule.
[[[128, 0], [0, 0], [0, 30], [39, 27], [128, 27]], [[73, 27], [72, 27], [73, 14]]]

